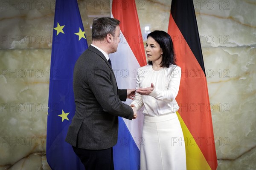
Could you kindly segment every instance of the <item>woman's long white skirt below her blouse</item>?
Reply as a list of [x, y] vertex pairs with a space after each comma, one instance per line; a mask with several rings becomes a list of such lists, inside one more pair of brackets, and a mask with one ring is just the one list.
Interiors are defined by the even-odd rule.
[[144, 116], [141, 170], [186, 170], [183, 132], [176, 113]]

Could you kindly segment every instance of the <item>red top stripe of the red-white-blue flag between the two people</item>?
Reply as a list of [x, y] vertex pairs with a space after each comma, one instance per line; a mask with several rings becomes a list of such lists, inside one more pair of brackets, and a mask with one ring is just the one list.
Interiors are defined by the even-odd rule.
[[[134, 0], [113, 0], [113, 17], [120, 21], [120, 29], [140, 66], [146, 65], [143, 37]], [[126, 43], [121, 42], [120, 43]]]

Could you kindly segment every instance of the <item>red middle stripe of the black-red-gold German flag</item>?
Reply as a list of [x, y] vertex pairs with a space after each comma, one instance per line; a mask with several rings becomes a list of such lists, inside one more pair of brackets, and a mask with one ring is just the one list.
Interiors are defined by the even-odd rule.
[[212, 170], [215, 170], [217, 168], [217, 157], [206, 77], [173, 20], [172, 14], [169, 18], [168, 33], [174, 43], [177, 65], [181, 67], [182, 71], [180, 89], [176, 97], [180, 106], [178, 112], [193, 138], [197, 141], [209, 166]]

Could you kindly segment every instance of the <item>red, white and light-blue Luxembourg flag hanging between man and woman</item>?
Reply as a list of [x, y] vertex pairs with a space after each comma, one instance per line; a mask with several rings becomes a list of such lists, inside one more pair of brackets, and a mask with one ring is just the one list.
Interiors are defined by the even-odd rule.
[[[119, 89], [136, 87], [137, 69], [146, 65], [143, 36], [140, 31], [137, 9], [134, 0], [111, 1], [111, 17], [120, 21], [120, 43], [117, 52], [110, 54], [112, 68]], [[127, 104], [131, 103], [127, 99]], [[143, 109], [143, 108], [142, 108]], [[140, 146], [143, 114], [138, 112], [132, 121], [119, 117], [118, 141], [113, 147], [116, 170], [140, 169]]]

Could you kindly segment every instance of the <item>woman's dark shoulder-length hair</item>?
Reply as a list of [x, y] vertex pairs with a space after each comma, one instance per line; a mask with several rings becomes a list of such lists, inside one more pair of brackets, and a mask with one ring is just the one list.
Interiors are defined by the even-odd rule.
[[[176, 65], [175, 52], [173, 49], [172, 38], [169, 34], [164, 31], [153, 31], [148, 34], [148, 37], [152, 37], [163, 50], [163, 57], [161, 67], [169, 68], [170, 63]], [[148, 64], [152, 65], [152, 61], [148, 61]]]

